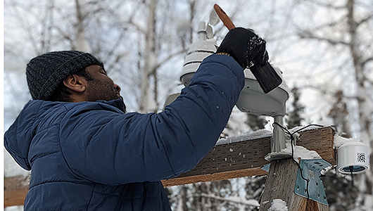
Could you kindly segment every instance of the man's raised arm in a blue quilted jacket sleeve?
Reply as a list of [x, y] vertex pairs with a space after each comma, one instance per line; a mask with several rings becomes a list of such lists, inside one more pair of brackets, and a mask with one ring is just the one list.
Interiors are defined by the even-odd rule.
[[103, 184], [176, 177], [213, 148], [243, 87], [244, 73], [232, 57], [210, 56], [161, 113], [80, 114], [70, 134], [61, 127], [63, 155], [75, 174]]

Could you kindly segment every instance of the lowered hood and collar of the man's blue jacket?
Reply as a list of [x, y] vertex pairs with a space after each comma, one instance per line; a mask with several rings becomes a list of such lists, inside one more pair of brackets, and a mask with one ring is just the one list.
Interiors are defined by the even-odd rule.
[[[125, 104], [118, 98], [113, 101], [98, 101], [106, 103], [125, 112]], [[28, 158], [30, 144], [36, 134], [39, 122], [53, 107], [61, 107], [68, 103], [34, 100], [29, 101], [18, 115], [15, 122], [4, 134], [4, 146], [15, 162], [25, 170], [31, 170]]]

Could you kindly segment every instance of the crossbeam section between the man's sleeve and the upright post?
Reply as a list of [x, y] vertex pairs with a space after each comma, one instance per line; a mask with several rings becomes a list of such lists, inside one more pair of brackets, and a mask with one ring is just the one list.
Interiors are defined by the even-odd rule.
[[217, 145], [193, 170], [177, 178], [163, 180], [163, 186], [267, 174], [260, 168], [268, 163], [264, 157], [270, 152], [270, 139], [265, 137]]

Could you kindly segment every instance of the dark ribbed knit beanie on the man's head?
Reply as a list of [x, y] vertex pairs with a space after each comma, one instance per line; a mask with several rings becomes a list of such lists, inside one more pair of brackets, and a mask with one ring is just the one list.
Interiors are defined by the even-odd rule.
[[48, 100], [69, 75], [90, 65], [103, 64], [89, 53], [80, 51], [53, 51], [30, 60], [26, 77], [34, 100]]

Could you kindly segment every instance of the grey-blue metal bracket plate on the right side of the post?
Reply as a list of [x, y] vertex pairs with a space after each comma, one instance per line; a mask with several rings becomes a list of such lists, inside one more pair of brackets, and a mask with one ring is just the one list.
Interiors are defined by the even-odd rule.
[[[299, 165], [301, 168], [298, 169], [294, 192], [299, 196], [305, 198], [309, 197], [311, 200], [328, 205], [327, 196], [324, 191], [324, 184], [322, 184], [322, 180], [320, 179], [320, 171], [331, 166], [331, 164], [323, 159], [312, 159], [301, 160]], [[308, 180], [308, 186], [307, 181], [302, 178], [301, 172], [303, 177]], [[309, 194], [307, 194], [307, 191]]]

